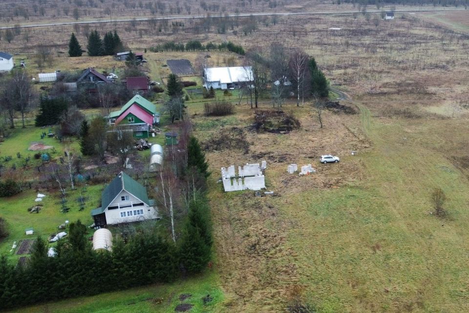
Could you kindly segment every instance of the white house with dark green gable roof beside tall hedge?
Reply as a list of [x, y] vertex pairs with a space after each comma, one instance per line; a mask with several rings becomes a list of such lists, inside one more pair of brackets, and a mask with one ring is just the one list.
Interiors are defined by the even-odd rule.
[[97, 227], [159, 219], [154, 200], [147, 189], [124, 172], [120, 172], [101, 194], [101, 207], [91, 211]]

